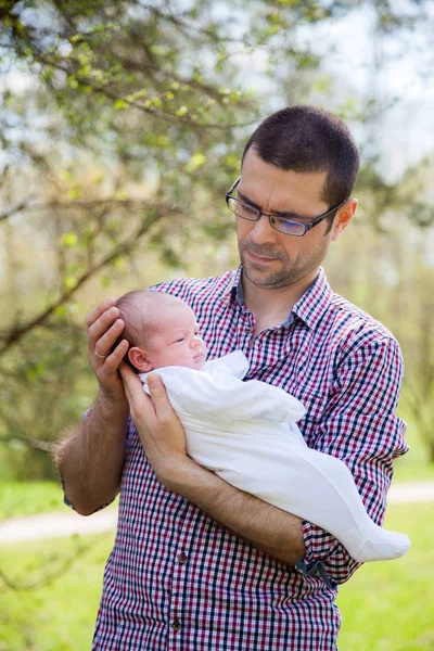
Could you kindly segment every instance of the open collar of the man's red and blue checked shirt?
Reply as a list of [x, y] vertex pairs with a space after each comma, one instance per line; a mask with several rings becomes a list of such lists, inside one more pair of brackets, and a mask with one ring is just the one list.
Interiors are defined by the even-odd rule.
[[[244, 294], [241, 282], [242, 265], [239, 266], [233, 273], [231, 282], [225, 292], [225, 295], [237, 299], [241, 307], [244, 307]], [[306, 290], [303, 296], [292, 308], [288, 320], [283, 326], [290, 326], [293, 321], [293, 315], [296, 315], [306, 326], [315, 329], [322, 315], [329, 308], [332, 301], [333, 292], [326, 277], [326, 271], [322, 267], [312, 284]]]

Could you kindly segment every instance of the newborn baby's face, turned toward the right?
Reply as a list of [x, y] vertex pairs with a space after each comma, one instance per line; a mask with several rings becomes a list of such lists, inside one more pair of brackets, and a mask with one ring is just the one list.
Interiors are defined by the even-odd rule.
[[146, 352], [154, 369], [166, 366], [202, 368], [206, 359], [206, 346], [188, 305], [170, 306], [158, 331], [151, 335]]

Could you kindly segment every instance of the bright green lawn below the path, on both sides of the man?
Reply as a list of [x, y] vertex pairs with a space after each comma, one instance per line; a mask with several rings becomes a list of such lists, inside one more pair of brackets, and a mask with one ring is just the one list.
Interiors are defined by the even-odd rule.
[[[340, 651], [434, 648], [432, 505], [392, 505], [386, 525], [405, 531], [412, 547], [398, 561], [368, 563], [342, 586]], [[17, 584], [43, 580], [75, 560], [38, 589], [0, 588], [0, 651], [89, 650], [112, 541], [106, 534], [2, 547], [0, 570]]]

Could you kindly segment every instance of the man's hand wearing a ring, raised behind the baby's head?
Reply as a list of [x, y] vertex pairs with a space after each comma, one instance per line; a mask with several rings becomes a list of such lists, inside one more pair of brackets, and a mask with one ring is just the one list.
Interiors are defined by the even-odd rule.
[[122, 341], [111, 353], [115, 341], [124, 330], [124, 321], [119, 319], [119, 310], [114, 304], [114, 298], [107, 298], [87, 317], [88, 356], [104, 398], [107, 398], [111, 404], [126, 406], [118, 368], [128, 350], [128, 342]]

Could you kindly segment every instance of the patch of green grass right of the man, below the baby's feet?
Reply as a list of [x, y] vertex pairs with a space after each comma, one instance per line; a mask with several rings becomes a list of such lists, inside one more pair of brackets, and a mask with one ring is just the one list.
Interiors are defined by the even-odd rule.
[[340, 651], [434, 649], [432, 505], [391, 505], [385, 525], [411, 538], [405, 557], [367, 563], [340, 589]]

